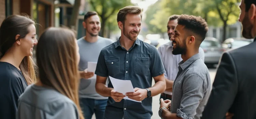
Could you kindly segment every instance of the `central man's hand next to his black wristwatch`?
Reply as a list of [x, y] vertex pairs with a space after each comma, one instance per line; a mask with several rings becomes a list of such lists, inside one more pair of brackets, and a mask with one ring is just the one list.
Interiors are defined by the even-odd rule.
[[147, 97], [147, 89], [134, 88], [134, 91], [135, 92], [127, 92], [126, 96], [137, 101], [142, 101]]

